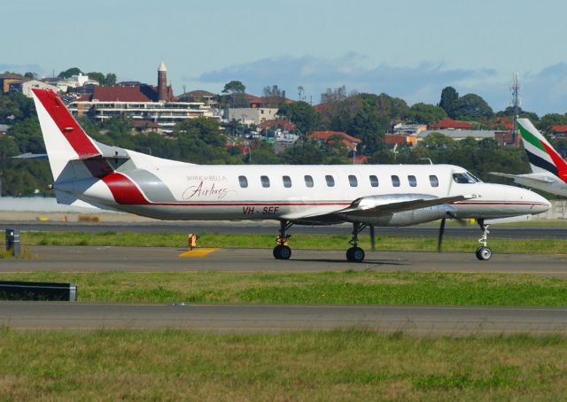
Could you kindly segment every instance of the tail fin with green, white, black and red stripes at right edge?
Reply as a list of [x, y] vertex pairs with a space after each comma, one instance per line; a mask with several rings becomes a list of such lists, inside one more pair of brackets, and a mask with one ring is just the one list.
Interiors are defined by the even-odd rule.
[[549, 172], [555, 174], [563, 182], [567, 182], [567, 163], [553, 146], [535, 128], [532, 121], [518, 119], [517, 128], [522, 135], [525, 152], [528, 154], [533, 173]]

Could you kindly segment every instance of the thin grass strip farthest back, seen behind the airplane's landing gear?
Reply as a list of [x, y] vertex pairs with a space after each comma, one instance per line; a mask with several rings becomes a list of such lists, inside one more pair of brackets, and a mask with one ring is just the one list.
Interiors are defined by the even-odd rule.
[[[521, 230], [518, 228], [518, 230]], [[480, 237], [480, 231], [478, 233]], [[471, 251], [477, 247], [473, 238], [446, 237], [444, 251]], [[345, 250], [349, 236], [294, 235], [291, 248], [311, 250]], [[4, 241], [4, 239], [0, 239]], [[164, 233], [79, 233], [79, 232], [25, 232], [21, 236], [24, 245], [115, 245], [115, 246], [156, 246], [184, 247], [187, 236]], [[220, 248], [273, 248], [275, 235], [221, 235], [205, 233], [199, 236], [199, 247]], [[567, 239], [509, 239], [490, 238], [490, 247], [497, 253], [537, 252], [567, 253]], [[369, 250], [369, 236], [361, 236], [360, 245]], [[377, 249], [383, 251], [437, 251], [435, 236], [377, 236]]]

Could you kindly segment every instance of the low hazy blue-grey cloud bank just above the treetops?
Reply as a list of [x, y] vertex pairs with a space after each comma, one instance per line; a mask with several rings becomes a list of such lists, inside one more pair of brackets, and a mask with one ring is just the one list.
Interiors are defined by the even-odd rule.
[[[494, 111], [509, 106], [509, 83], [514, 72], [493, 69], [458, 69], [444, 64], [423, 62], [418, 66], [368, 66], [368, 58], [350, 52], [340, 58], [280, 57], [263, 58], [203, 73], [197, 79], [183, 81], [222, 88], [230, 80], [242, 81], [246, 90], [260, 95], [266, 86], [286, 89], [288, 97], [297, 98], [299, 85], [307, 98], [319, 102], [325, 89], [345, 85], [348, 91], [386, 93], [401, 97], [408, 104], [437, 104], [441, 90], [454, 87], [459, 94], [476, 93], [484, 97]], [[567, 111], [567, 64], [548, 66], [538, 73], [520, 76], [523, 108], [540, 115]]]

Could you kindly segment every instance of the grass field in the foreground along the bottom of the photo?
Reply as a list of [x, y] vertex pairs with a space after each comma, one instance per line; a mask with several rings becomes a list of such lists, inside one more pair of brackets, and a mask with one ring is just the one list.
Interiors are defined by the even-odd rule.
[[567, 340], [0, 330], [0, 400], [563, 400]]

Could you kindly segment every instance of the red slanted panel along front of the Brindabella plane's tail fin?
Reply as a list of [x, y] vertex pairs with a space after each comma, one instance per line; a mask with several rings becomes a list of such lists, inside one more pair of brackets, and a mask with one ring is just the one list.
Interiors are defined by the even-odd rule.
[[35, 97], [43, 104], [45, 110], [50, 114], [51, 119], [71, 144], [74, 151], [80, 158], [90, 158], [100, 155], [97, 147], [90, 140], [89, 136], [82, 130], [71, 113], [67, 111], [65, 104], [55, 92], [50, 89], [32, 89]]

